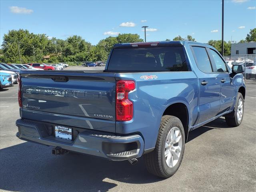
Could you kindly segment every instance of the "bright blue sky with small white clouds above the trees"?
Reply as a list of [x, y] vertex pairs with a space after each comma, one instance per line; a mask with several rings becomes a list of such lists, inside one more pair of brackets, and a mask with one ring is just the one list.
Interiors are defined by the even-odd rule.
[[[147, 42], [191, 35], [197, 42], [221, 39], [221, 0], [6, 1], [0, 0], [0, 44], [9, 30], [48, 38], [82, 36], [96, 45], [108, 36], [137, 33]], [[256, 0], [224, 1], [224, 40], [244, 39], [256, 28]]]

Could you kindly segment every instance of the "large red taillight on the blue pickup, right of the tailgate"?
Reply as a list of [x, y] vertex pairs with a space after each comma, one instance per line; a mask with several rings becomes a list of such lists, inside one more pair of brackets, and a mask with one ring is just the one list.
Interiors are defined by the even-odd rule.
[[116, 121], [129, 121], [133, 117], [133, 103], [128, 93], [135, 89], [135, 82], [119, 80], [116, 82]]

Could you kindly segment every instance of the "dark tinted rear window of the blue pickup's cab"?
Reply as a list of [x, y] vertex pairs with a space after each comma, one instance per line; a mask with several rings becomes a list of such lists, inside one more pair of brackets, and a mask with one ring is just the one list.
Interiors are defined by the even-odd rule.
[[108, 70], [188, 71], [183, 47], [116, 48]]

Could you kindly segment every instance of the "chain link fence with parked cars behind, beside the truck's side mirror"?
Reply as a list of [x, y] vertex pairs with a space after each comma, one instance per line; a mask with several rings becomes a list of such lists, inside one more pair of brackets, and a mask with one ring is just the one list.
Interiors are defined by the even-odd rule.
[[256, 79], [256, 54], [246, 55], [226, 55], [224, 59], [228, 66], [240, 64], [244, 66], [244, 77], [248, 79]]

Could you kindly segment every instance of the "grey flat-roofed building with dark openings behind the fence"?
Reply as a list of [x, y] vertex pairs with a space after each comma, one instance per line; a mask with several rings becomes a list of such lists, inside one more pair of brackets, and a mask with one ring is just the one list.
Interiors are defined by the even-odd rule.
[[256, 54], [256, 42], [231, 44], [231, 55]]

